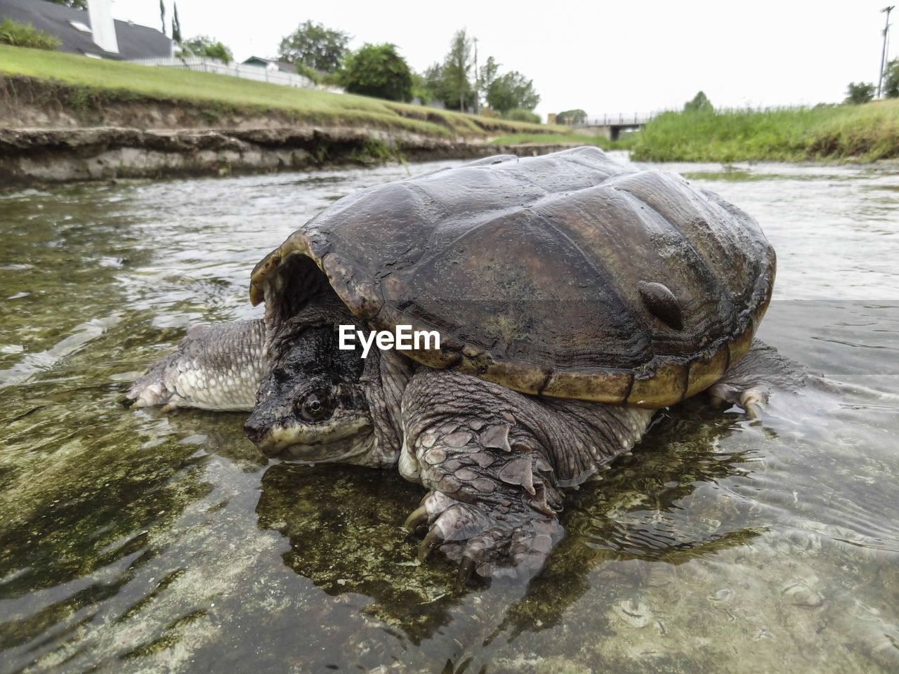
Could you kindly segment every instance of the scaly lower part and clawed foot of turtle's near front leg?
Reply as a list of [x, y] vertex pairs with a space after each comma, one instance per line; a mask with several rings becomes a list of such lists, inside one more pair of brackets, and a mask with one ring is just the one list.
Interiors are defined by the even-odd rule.
[[418, 477], [432, 490], [405, 521], [410, 533], [428, 526], [418, 559], [439, 545], [459, 563], [457, 589], [473, 572], [528, 579], [563, 533], [553, 470], [539, 450], [510, 441], [508, 422], [460, 421], [432, 424], [415, 443]]

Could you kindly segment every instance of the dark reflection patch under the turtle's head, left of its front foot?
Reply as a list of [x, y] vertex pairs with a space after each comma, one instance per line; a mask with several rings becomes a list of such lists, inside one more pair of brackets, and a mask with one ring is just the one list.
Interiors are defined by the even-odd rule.
[[396, 473], [352, 466], [271, 466], [256, 506], [259, 526], [289, 539], [284, 563], [328, 594], [364, 594], [365, 608], [413, 642], [446, 623], [453, 563], [419, 564], [400, 524], [422, 494]]

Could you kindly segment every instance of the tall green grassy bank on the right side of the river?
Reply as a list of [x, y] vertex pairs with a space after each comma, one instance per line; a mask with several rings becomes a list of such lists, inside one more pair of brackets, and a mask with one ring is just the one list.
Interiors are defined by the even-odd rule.
[[899, 101], [767, 111], [665, 112], [636, 134], [654, 162], [870, 162], [899, 157]]

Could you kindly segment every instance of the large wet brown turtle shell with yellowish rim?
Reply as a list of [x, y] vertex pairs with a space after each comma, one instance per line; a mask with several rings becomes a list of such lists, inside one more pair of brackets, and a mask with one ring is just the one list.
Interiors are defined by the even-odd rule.
[[579, 147], [345, 197], [256, 265], [251, 297], [277, 330], [326, 281], [373, 329], [438, 331], [439, 350], [402, 351], [432, 368], [663, 407], [743, 357], [774, 271], [739, 208]]

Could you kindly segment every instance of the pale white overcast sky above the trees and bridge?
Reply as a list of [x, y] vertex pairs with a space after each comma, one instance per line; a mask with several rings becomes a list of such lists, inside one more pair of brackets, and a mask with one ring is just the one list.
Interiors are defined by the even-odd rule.
[[[277, 55], [307, 19], [364, 42], [393, 42], [422, 72], [442, 61], [453, 33], [478, 39], [483, 65], [534, 82], [537, 107], [589, 115], [680, 108], [700, 89], [716, 107], [840, 102], [846, 85], [877, 84], [892, 0], [177, 0], [182, 34], [221, 40], [238, 60]], [[173, 0], [165, 0], [171, 21]], [[159, 0], [112, 0], [117, 19], [160, 27]], [[899, 8], [891, 15], [899, 29]], [[167, 31], [170, 33], [170, 31]], [[891, 31], [891, 41], [899, 38]], [[889, 48], [894, 58], [896, 49]]]

